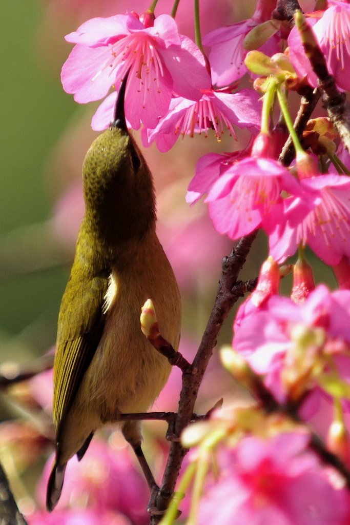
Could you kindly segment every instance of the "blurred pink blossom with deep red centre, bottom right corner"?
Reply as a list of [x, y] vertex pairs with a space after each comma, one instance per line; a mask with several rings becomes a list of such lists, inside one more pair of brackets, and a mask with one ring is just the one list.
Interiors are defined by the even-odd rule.
[[199, 525], [346, 525], [349, 496], [336, 489], [309, 437], [285, 433], [249, 436], [218, 458], [219, 480], [201, 500]]

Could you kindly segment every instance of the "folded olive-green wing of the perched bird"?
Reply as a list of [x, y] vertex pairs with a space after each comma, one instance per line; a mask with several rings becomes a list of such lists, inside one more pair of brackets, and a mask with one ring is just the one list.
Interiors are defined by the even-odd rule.
[[108, 276], [86, 280], [71, 276], [62, 298], [54, 366], [54, 423], [58, 440], [82, 377], [101, 339], [107, 289]]

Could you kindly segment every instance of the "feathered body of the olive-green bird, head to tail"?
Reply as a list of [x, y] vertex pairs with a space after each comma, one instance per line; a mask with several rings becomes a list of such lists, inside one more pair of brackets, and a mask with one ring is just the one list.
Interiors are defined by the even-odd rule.
[[[141, 332], [146, 299], [163, 337], [175, 349], [179, 343], [181, 300], [155, 233], [152, 175], [123, 117], [92, 143], [83, 191], [86, 214], [58, 319], [49, 510], [67, 461], [81, 459], [95, 430], [119, 414], [146, 411], [167, 380], [171, 366]], [[133, 446], [141, 443], [139, 422], [121, 425]]]

